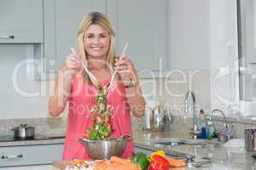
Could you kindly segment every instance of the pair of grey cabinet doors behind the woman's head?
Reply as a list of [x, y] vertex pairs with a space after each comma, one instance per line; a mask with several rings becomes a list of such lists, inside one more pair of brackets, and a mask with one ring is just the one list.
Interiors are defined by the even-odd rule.
[[166, 70], [166, 3], [166, 0], [44, 0], [46, 71], [58, 69], [67, 54], [71, 54], [80, 21], [92, 11], [107, 14], [113, 23], [118, 54], [125, 42], [129, 42], [126, 52], [138, 72], [151, 76], [152, 71]]

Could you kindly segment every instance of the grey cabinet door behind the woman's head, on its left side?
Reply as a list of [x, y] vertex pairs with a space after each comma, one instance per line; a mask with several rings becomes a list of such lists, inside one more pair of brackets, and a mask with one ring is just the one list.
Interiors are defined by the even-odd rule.
[[44, 0], [44, 57], [46, 70], [58, 69], [71, 54], [84, 15], [106, 14], [105, 0]]

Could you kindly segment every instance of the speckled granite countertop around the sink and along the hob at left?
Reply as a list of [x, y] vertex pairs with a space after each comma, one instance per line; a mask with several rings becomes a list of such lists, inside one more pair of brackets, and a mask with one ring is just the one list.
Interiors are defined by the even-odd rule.
[[[53, 137], [53, 138], [52, 138]], [[179, 138], [189, 139], [189, 135], [186, 133], [150, 133], [145, 131], [137, 131], [133, 134], [133, 139], [137, 147], [147, 150], [172, 150], [176, 152], [185, 153], [189, 156], [209, 157], [212, 164], [208, 164], [207, 167], [196, 167], [196, 169], [242, 169], [242, 170], [254, 170], [256, 161], [253, 160], [253, 152], [247, 152], [244, 147], [239, 148], [225, 148], [223, 144], [181, 144], [176, 146], [165, 146], [162, 144], [154, 144], [154, 141], [162, 138]], [[14, 146], [14, 145], [30, 145], [30, 144], [63, 144], [64, 136], [58, 136], [56, 139], [54, 135], [49, 139], [44, 140], [31, 140], [31, 141], [14, 141], [14, 142], [0, 142], [0, 146]], [[26, 169], [25, 167], [23, 169]], [[53, 169], [46, 166], [44, 169]], [[184, 169], [195, 169], [195, 167], [186, 167]]]

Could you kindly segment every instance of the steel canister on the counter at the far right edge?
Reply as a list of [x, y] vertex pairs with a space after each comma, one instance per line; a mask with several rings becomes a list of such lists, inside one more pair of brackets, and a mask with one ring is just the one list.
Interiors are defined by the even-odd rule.
[[244, 130], [245, 149], [247, 151], [253, 151], [255, 148], [254, 133], [256, 132], [255, 127], [246, 128]]

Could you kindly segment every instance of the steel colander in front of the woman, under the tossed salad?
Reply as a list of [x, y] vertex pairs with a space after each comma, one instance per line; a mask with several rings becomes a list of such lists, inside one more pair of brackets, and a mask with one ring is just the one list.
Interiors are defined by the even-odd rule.
[[96, 160], [110, 159], [111, 156], [122, 156], [127, 141], [131, 140], [131, 135], [122, 135], [121, 137], [109, 137], [108, 140], [89, 140], [79, 139], [84, 144], [85, 150]]

